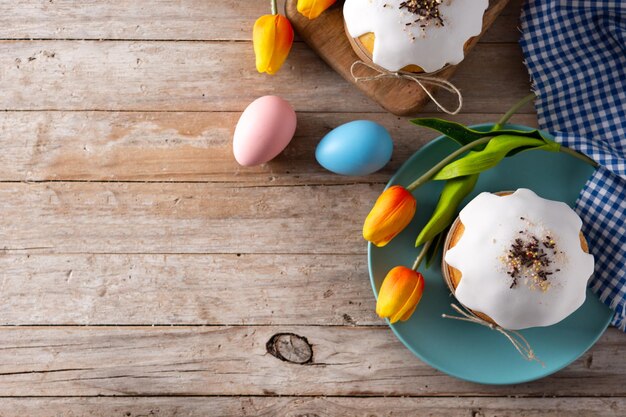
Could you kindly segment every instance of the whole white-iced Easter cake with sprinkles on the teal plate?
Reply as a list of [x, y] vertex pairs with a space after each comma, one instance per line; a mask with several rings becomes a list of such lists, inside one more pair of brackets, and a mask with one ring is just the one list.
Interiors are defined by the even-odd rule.
[[481, 193], [453, 223], [443, 272], [457, 300], [486, 321], [550, 326], [585, 301], [593, 256], [580, 217], [528, 189]]

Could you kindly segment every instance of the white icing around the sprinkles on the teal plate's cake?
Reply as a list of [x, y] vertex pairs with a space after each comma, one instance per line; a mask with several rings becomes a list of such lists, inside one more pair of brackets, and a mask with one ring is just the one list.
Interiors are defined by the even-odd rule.
[[[445, 261], [461, 271], [455, 292], [461, 304], [512, 330], [550, 326], [583, 304], [594, 260], [580, 247], [582, 221], [567, 204], [523, 188], [502, 197], [482, 193], [465, 206], [460, 219], [465, 231], [446, 252]], [[548, 234], [556, 242], [559, 254], [550, 268], [560, 271], [549, 276], [546, 291], [523, 279], [510, 288], [503, 256], [520, 230]]]

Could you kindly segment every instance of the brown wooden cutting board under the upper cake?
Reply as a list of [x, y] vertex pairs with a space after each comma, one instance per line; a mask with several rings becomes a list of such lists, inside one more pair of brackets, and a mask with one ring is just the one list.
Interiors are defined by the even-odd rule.
[[[470, 53], [480, 37], [491, 26], [509, 0], [491, 0], [483, 18], [483, 30], [474, 37], [466, 47]], [[297, 0], [287, 0], [285, 14], [291, 21], [294, 30], [328, 65], [354, 84], [368, 97], [380, 104], [384, 109], [398, 116], [415, 115], [430, 98], [414, 81], [398, 78], [383, 78], [374, 81], [356, 82], [350, 68], [360, 58], [352, 49], [343, 24], [343, 1], [326, 10], [317, 19], [309, 20], [298, 13]], [[450, 65], [437, 73], [438, 78], [449, 79], [456, 65]], [[359, 66], [356, 73], [359, 77], [374, 76], [378, 73], [372, 69]], [[426, 86], [433, 92], [435, 87]], [[447, 93], [446, 93], [447, 94]], [[453, 106], [454, 107], [454, 106]]]

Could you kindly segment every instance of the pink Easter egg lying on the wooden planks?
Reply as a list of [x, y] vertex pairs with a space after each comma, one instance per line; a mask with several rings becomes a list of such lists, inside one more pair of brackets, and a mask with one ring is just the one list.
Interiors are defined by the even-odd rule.
[[296, 112], [278, 96], [263, 96], [246, 107], [233, 137], [233, 153], [243, 166], [268, 162], [283, 151], [296, 132]]

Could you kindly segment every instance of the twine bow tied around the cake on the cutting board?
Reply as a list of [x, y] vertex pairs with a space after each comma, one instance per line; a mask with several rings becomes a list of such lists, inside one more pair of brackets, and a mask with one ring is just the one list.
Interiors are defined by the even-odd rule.
[[[377, 74], [370, 75], [370, 76], [357, 76], [355, 74], [355, 69], [358, 66], [367, 67], [373, 71], [376, 71]], [[435, 73], [431, 73], [431, 74], [435, 74]], [[384, 78], [397, 78], [397, 79], [413, 81], [418, 86], [420, 86], [422, 90], [424, 90], [424, 93], [426, 93], [426, 95], [432, 100], [432, 102], [435, 103], [435, 105], [439, 108], [439, 110], [449, 115], [458, 114], [461, 111], [461, 108], [463, 107], [463, 95], [461, 94], [461, 91], [458, 88], [456, 88], [456, 86], [452, 84], [450, 81], [444, 80], [443, 78], [433, 77], [431, 75], [426, 75], [426, 74], [409, 74], [406, 72], [386, 71], [375, 65], [369, 64], [361, 60], [354, 61], [352, 63], [352, 66], [350, 66], [350, 75], [352, 75], [354, 82], [357, 82], [357, 83], [367, 82], [367, 81], [376, 81], [376, 80], [380, 80]], [[433, 94], [428, 89], [428, 86], [439, 87], [455, 95], [458, 101], [457, 107], [454, 110], [450, 110], [446, 106], [441, 104], [439, 101], [437, 101], [437, 99], [435, 99]]]

